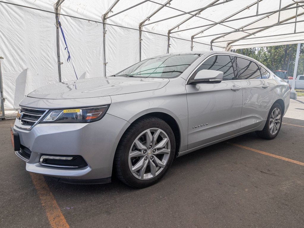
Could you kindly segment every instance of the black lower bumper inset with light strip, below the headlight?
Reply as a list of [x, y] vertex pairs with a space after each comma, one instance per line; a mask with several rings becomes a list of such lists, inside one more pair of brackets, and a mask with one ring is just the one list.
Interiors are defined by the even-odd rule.
[[85, 159], [79, 155], [42, 155], [39, 164], [62, 168], [82, 168], [88, 166]]

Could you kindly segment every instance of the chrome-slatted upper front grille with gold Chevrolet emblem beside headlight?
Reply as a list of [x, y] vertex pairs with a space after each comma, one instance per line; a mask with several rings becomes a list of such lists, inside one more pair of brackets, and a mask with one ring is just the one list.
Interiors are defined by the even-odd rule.
[[45, 114], [46, 111], [47, 110], [45, 109], [21, 107], [17, 118], [20, 120], [23, 126], [31, 128]]

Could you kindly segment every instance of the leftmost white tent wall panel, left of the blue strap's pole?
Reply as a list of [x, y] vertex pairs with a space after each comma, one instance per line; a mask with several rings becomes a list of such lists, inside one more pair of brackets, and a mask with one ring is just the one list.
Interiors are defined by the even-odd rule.
[[17, 109], [26, 94], [58, 81], [54, 15], [2, 4], [0, 53], [5, 108]]

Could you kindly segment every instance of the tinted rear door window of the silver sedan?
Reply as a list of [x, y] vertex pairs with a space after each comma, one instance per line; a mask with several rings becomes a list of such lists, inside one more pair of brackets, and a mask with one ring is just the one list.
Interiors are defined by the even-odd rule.
[[237, 57], [238, 76], [240, 79], [261, 79], [261, 72], [257, 64], [240, 57]]

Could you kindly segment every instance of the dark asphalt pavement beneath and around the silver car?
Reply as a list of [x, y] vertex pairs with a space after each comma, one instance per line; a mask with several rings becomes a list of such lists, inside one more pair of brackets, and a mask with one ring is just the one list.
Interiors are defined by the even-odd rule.
[[30, 175], [13, 122], [0, 121], [0, 227], [56, 227], [54, 210], [67, 227], [304, 227], [304, 120], [284, 117], [274, 140], [250, 133], [176, 158], [145, 189]]

